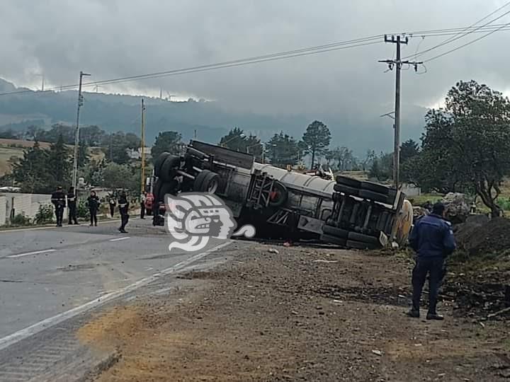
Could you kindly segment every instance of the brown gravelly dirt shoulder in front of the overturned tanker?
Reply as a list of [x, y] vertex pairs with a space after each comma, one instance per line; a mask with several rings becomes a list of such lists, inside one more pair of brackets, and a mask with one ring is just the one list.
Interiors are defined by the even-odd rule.
[[510, 381], [506, 321], [453, 316], [455, 301], [439, 306], [442, 322], [404, 316], [408, 257], [254, 248], [183, 275], [201, 287], [81, 328], [90, 347], [118, 354], [94, 381]]

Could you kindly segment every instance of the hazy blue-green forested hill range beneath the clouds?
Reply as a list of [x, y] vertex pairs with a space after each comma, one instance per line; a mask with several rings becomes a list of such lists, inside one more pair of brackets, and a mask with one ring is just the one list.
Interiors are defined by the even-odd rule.
[[[12, 83], [0, 79], [0, 93], [20, 90]], [[82, 125], [97, 125], [106, 132], [140, 132], [139, 96], [84, 93], [84, 106], [80, 112]], [[263, 115], [253, 112], [234, 112], [217, 102], [188, 100], [170, 102], [145, 97], [147, 105], [147, 143], [161, 131], [180, 132], [183, 139], [191, 139], [196, 131], [203, 141], [217, 142], [232, 127], [259, 136], [263, 141], [274, 133], [284, 132], [299, 139], [312, 120], [322, 120], [331, 130], [333, 146], [348, 146], [358, 154], [366, 149], [390, 151], [392, 149], [391, 121], [379, 115], [365, 115], [360, 111], [345, 111], [316, 115], [303, 111], [300, 115]], [[13, 96], [0, 96], [0, 130], [25, 129], [29, 125], [50, 127], [55, 123], [74, 125], [76, 121], [77, 92], [32, 92]], [[363, 109], [363, 106], [361, 106]], [[387, 111], [387, 110], [383, 110]], [[419, 138], [426, 110], [412, 108], [404, 112], [402, 139]]]

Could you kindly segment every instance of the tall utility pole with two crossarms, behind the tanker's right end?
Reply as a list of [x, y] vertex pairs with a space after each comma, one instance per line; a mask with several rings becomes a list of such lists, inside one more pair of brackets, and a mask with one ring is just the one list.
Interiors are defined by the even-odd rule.
[[400, 71], [402, 70], [402, 64], [409, 64], [414, 66], [414, 70], [417, 71], [418, 65], [423, 64], [423, 62], [409, 62], [400, 59], [400, 45], [407, 45], [409, 42], [409, 38], [405, 37], [405, 40], [402, 40], [400, 35], [392, 35], [391, 38], [388, 38], [385, 35], [385, 42], [391, 42], [392, 44], [397, 45], [397, 57], [395, 59], [385, 59], [379, 60], [379, 62], [384, 62], [388, 65], [390, 70], [395, 68], [395, 134], [393, 139], [393, 185], [398, 190], [400, 181], [399, 181], [399, 173], [400, 173]]

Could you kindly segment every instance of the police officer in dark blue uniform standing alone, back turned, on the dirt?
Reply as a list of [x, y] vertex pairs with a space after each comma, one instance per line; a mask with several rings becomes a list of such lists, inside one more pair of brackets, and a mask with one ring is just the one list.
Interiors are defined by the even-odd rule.
[[416, 265], [412, 272], [413, 305], [407, 316], [419, 318], [421, 289], [429, 274], [429, 312], [427, 320], [443, 320], [436, 312], [439, 287], [443, 279], [445, 258], [455, 250], [455, 238], [448, 221], [444, 220], [445, 206], [437, 202], [432, 213], [422, 217], [409, 236], [409, 245], [416, 252]]

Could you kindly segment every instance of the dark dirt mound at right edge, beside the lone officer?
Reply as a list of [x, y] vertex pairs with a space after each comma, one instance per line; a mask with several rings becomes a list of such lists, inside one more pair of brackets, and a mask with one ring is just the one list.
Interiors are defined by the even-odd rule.
[[455, 229], [458, 248], [470, 255], [500, 253], [510, 248], [510, 220], [468, 219]]

